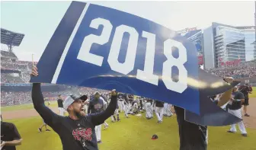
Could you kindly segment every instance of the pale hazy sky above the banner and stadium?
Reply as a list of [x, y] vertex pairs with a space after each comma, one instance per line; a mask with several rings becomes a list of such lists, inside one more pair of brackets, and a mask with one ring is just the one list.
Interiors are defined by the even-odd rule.
[[[87, 1], [88, 2], [88, 1]], [[254, 2], [91, 2], [116, 8], [162, 24], [171, 30], [203, 29], [212, 22], [254, 25]], [[25, 34], [14, 53], [20, 60], [38, 61], [70, 2], [1, 2], [1, 27]], [[1, 49], [8, 49], [1, 44]]]

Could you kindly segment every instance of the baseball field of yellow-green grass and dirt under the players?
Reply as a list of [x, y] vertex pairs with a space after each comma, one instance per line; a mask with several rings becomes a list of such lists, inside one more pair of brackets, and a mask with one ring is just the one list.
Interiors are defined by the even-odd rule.
[[[256, 139], [256, 88], [254, 94], [250, 94], [250, 106], [248, 113], [250, 117], [244, 116], [244, 122], [248, 131], [248, 137], [226, 132], [229, 126], [209, 128], [209, 150], [255, 150]], [[51, 108], [56, 113], [56, 101], [52, 102]], [[17, 146], [18, 150], [61, 150], [62, 145], [59, 136], [53, 132], [38, 132], [42, 119], [33, 109], [32, 104], [21, 106], [1, 107], [3, 120], [14, 123], [23, 139], [22, 145]], [[102, 150], [178, 150], [178, 124], [176, 116], [165, 117], [163, 123], [156, 123], [153, 120], [146, 120], [145, 113], [142, 116], [131, 116], [124, 118], [120, 113], [121, 121], [111, 123], [107, 120], [109, 127], [102, 129], [102, 142], [99, 147]], [[157, 140], [152, 140], [153, 134], [158, 135]]]

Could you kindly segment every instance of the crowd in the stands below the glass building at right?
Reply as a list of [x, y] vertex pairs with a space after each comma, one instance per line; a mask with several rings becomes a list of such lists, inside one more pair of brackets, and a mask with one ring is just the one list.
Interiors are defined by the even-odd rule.
[[256, 76], [256, 60], [242, 62], [239, 65], [222, 66], [216, 69], [207, 70], [220, 77], [232, 76], [233, 78], [251, 78]]

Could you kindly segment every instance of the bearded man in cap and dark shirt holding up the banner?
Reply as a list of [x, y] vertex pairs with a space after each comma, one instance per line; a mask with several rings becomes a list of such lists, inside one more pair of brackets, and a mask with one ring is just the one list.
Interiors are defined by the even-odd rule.
[[[33, 66], [31, 75], [38, 76], [37, 67]], [[98, 142], [95, 134], [95, 126], [104, 123], [114, 114], [117, 107], [117, 93], [111, 91], [111, 101], [107, 109], [101, 113], [85, 115], [83, 101], [85, 95], [72, 94], [66, 97], [63, 107], [69, 116], [59, 116], [46, 107], [43, 101], [40, 83], [34, 83], [32, 88], [32, 101], [35, 110], [42, 116], [47, 125], [59, 135], [63, 150], [98, 150]]]

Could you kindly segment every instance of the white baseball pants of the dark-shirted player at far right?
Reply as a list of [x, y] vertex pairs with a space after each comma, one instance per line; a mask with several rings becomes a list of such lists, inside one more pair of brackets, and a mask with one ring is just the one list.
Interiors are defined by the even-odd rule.
[[[228, 109], [228, 112], [231, 113], [231, 114], [233, 114], [233, 115], [235, 115], [235, 116], [237, 116], [238, 118], [241, 118], [241, 119], [242, 119], [242, 108], [240, 108], [240, 109], [238, 109], [238, 110], [229, 110], [229, 109]], [[241, 121], [240, 123], [237, 123], [237, 124], [238, 124], [238, 127], [239, 127], [241, 133], [242, 133], [242, 134], [246, 134], [247, 132], [246, 132], [246, 129], [245, 129], [245, 124], [244, 124], [244, 122]], [[231, 125], [230, 131], [236, 132], [235, 124], [232, 124], [232, 125]]]

